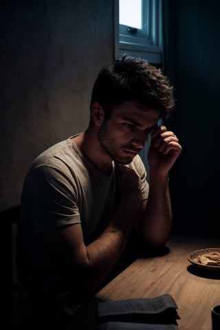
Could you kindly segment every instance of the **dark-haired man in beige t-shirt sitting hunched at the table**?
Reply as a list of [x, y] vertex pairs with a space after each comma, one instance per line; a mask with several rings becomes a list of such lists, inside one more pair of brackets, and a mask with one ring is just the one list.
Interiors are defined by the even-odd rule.
[[[168, 172], [181, 146], [157, 122], [173, 105], [162, 72], [124, 55], [98, 75], [88, 129], [32, 164], [21, 197], [21, 225], [28, 298], [38, 313], [74, 310], [96, 292], [131, 234], [143, 249], [166, 244], [172, 225]], [[150, 134], [146, 181], [138, 153]]]

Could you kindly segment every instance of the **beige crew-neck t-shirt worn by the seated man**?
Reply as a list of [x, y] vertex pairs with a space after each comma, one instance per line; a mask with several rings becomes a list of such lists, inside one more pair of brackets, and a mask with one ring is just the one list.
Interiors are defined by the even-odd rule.
[[[142, 180], [142, 199], [148, 197], [146, 170], [139, 155], [128, 165]], [[30, 285], [37, 293], [63, 292], [63, 274], [54, 269], [39, 233], [81, 223], [85, 244], [107, 225], [117, 203], [115, 168], [100, 173], [71, 137], [41, 153], [32, 164], [21, 195], [23, 256]], [[33, 287], [32, 287], [33, 289]], [[36, 294], [36, 293], [35, 293]]]

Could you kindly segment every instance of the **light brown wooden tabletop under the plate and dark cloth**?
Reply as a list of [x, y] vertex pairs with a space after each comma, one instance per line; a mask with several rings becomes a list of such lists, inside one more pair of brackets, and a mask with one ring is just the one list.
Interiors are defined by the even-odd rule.
[[163, 256], [137, 259], [91, 299], [78, 329], [94, 325], [98, 301], [173, 296], [179, 330], [211, 330], [211, 307], [220, 305], [220, 272], [191, 265], [192, 251], [220, 248], [218, 239], [171, 236]]

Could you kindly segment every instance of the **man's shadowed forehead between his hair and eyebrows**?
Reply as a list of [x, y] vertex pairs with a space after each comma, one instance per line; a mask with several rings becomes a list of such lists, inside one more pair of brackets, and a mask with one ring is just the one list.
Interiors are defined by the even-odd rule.
[[111, 119], [130, 120], [140, 126], [145, 126], [146, 124], [155, 124], [159, 120], [159, 111], [152, 108], [143, 111], [137, 107], [134, 101], [124, 102], [120, 106], [113, 108]]

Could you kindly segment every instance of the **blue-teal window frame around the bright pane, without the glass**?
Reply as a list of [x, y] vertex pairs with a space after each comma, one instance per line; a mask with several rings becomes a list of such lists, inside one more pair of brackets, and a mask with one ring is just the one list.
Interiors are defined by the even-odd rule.
[[128, 26], [119, 24], [119, 0], [115, 0], [115, 56], [129, 53], [162, 64], [162, 0], [142, 1], [143, 28], [130, 34]]

